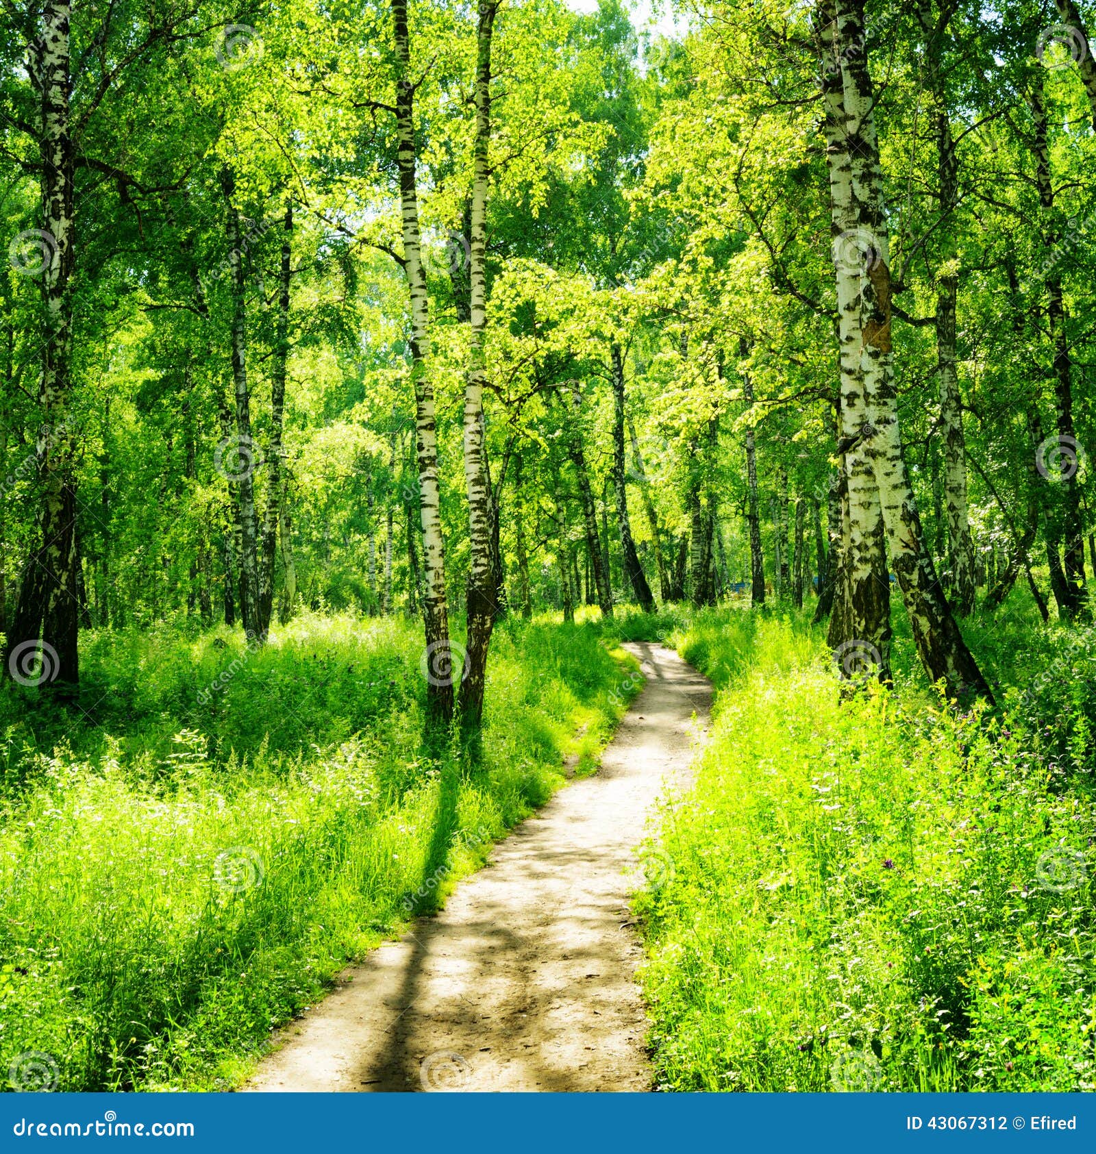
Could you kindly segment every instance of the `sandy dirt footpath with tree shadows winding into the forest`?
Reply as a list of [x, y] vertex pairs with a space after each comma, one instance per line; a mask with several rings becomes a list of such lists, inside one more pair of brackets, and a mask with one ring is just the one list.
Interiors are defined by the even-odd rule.
[[[711, 685], [673, 650], [647, 675], [600, 772], [500, 842], [436, 916], [380, 946], [280, 1033], [250, 1091], [643, 1091], [635, 846], [706, 728]], [[698, 725], [691, 722], [697, 714]]]

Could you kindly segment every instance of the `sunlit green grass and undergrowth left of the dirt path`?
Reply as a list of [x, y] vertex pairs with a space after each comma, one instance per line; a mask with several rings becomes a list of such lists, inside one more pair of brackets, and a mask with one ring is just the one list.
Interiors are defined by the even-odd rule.
[[[506, 623], [482, 743], [425, 741], [415, 623], [89, 635], [80, 710], [0, 697], [0, 1069], [59, 1088], [240, 1080], [268, 1031], [435, 906], [588, 767], [631, 658]], [[208, 687], [224, 672], [224, 685]]]

